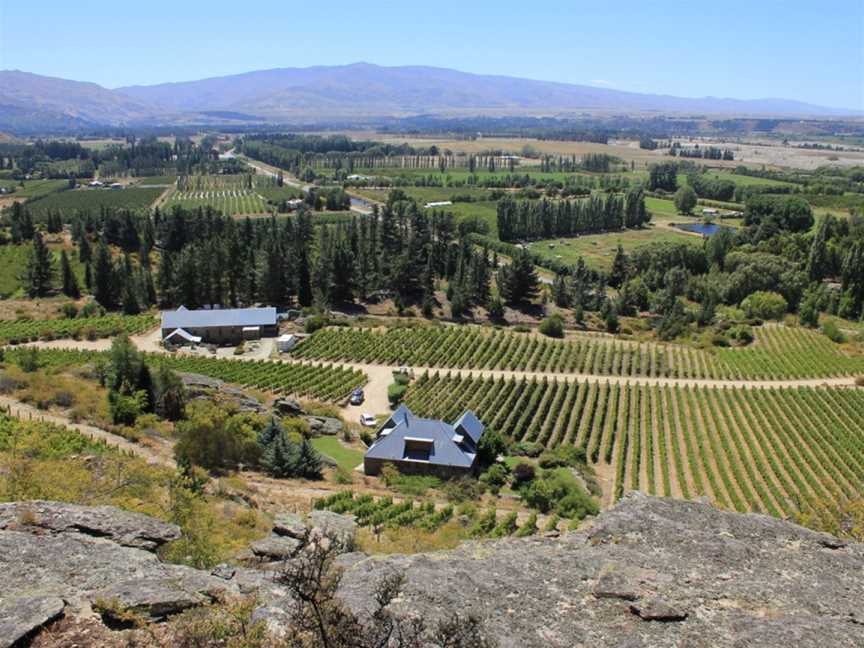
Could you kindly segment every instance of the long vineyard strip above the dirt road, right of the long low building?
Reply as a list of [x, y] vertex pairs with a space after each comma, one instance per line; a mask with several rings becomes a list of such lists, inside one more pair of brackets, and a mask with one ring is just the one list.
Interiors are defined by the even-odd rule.
[[864, 358], [846, 355], [825, 336], [781, 326], [758, 329], [751, 347], [716, 353], [592, 336], [558, 341], [466, 327], [386, 332], [334, 328], [316, 332], [294, 355], [328, 361], [634, 378], [778, 380], [864, 371]]

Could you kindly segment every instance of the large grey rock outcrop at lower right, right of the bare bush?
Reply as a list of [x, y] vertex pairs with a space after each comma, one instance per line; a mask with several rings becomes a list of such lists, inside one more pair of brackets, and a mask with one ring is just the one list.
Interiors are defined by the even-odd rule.
[[633, 493], [559, 539], [340, 562], [354, 609], [396, 570], [398, 611], [476, 613], [500, 648], [864, 646], [864, 545], [702, 503]]

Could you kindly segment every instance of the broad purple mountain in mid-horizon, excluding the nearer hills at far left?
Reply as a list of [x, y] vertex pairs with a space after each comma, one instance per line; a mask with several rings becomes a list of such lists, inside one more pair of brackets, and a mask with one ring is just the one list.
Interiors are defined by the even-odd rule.
[[784, 99], [687, 99], [444, 68], [369, 63], [263, 70], [186, 83], [132, 86], [118, 92], [165, 109], [218, 108], [272, 118], [308, 115], [312, 111], [333, 116], [483, 111], [549, 114], [581, 110], [826, 115], [849, 112]]

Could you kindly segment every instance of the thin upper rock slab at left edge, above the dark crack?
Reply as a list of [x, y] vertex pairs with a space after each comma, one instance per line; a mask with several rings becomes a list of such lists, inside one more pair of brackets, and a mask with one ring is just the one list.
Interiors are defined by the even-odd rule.
[[125, 547], [151, 551], [180, 537], [180, 528], [175, 524], [113, 506], [78, 506], [38, 500], [0, 504], [0, 529], [27, 527], [53, 533], [77, 531], [109, 538]]

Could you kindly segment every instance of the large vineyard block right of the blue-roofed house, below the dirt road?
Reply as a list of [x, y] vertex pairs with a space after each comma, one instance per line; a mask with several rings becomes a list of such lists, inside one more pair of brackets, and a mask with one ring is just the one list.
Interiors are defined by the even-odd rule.
[[[424, 374], [406, 403], [451, 420], [474, 410], [513, 440], [586, 450], [630, 490], [708, 496], [738, 511], [830, 517], [864, 496], [864, 392], [463, 378]], [[603, 467], [606, 467], [603, 469]]]

